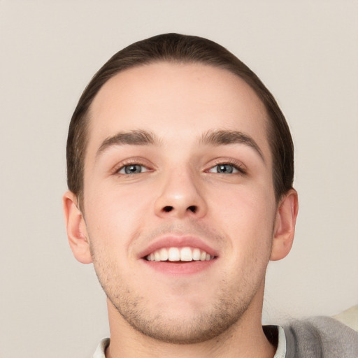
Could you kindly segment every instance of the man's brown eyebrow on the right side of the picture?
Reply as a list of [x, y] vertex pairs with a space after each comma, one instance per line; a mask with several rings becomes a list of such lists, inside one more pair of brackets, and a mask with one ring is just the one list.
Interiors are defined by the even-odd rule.
[[215, 130], [207, 131], [201, 136], [199, 143], [204, 145], [230, 145], [230, 144], [244, 144], [253, 148], [257, 154], [265, 162], [262, 150], [259, 145], [255, 142], [254, 138], [244, 134], [241, 131], [230, 131], [230, 130]]

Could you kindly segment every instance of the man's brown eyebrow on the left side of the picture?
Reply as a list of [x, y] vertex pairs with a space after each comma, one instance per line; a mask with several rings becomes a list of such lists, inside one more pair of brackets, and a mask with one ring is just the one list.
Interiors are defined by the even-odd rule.
[[155, 134], [142, 129], [132, 131], [120, 131], [106, 138], [96, 152], [96, 157], [100, 157], [108, 148], [115, 145], [159, 145], [160, 141]]

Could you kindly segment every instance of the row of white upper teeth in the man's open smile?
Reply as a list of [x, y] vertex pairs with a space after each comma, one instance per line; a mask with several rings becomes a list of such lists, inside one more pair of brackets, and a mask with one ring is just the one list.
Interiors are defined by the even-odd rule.
[[198, 248], [162, 248], [146, 257], [148, 261], [209, 261], [213, 258]]

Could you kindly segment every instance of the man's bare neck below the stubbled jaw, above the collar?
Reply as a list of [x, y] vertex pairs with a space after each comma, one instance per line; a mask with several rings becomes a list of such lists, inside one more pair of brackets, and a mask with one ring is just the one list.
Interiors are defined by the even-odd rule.
[[255, 304], [251, 304], [240, 320], [220, 336], [201, 343], [176, 344], [143, 335], [131, 327], [108, 301], [110, 345], [106, 358], [272, 358], [276, 348], [264, 335], [261, 315], [262, 308], [256, 309]]

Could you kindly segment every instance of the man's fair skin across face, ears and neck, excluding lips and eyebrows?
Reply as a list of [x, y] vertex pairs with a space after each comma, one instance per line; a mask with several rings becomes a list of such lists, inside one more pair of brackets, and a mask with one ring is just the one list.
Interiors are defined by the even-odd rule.
[[[264, 277], [292, 246], [297, 195], [275, 201], [267, 125], [243, 80], [203, 64], [129, 69], [96, 95], [83, 213], [71, 192], [64, 212], [73, 254], [93, 262], [108, 296], [108, 357], [273, 357]], [[103, 146], [134, 130], [157, 141]], [[203, 141], [218, 130], [257, 147]], [[130, 164], [141, 173], [126, 174]], [[167, 236], [198, 238], [215, 260], [189, 274], [154, 270], [141, 252]]]

